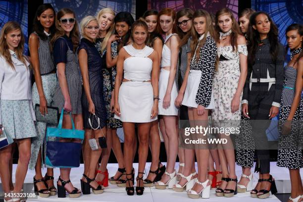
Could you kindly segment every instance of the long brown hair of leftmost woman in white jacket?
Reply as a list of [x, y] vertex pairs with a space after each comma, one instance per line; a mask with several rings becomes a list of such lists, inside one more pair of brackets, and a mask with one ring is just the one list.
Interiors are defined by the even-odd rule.
[[18, 44], [18, 47], [15, 48], [15, 53], [16, 53], [18, 59], [26, 66], [26, 61], [28, 61], [28, 60], [23, 55], [25, 39], [24, 39], [24, 35], [22, 33], [22, 30], [21, 30], [21, 27], [20, 27], [19, 23], [15, 22], [15, 21], [8, 21], [7, 23], [4, 24], [4, 26], [1, 29], [1, 33], [0, 33], [0, 55], [4, 57], [7, 64], [13, 70], [15, 70], [15, 67], [14, 67], [14, 64], [12, 62], [11, 55], [10, 55], [9, 48], [8, 48], [8, 44], [6, 42], [5, 37], [10, 32], [18, 31], [18, 30], [20, 30], [20, 32], [21, 32], [21, 40]]

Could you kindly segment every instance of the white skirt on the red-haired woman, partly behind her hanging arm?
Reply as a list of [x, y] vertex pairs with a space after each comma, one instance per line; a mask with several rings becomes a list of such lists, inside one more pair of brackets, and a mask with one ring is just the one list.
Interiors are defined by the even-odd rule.
[[166, 93], [167, 84], [168, 84], [169, 71], [161, 68], [160, 76], [159, 76], [159, 107], [158, 107], [158, 115], [166, 115], [166, 116], [177, 116], [178, 108], [175, 105], [175, 100], [178, 96], [176, 82], [174, 81], [173, 87], [171, 89], [170, 94], [170, 106], [166, 109], [163, 108], [163, 99]]

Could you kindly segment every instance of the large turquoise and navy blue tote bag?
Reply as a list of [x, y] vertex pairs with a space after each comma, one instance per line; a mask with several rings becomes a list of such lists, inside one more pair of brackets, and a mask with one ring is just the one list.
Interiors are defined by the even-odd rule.
[[51, 167], [73, 168], [80, 166], [84, 130], [76, 130], [69, 113], [72, 129], [62, 128], [63, 108], [57, 128], [47, 128], [46, 164]]

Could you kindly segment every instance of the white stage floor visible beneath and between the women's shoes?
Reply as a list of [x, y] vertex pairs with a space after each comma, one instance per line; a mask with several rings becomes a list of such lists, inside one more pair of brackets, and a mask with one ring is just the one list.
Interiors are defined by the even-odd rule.
[[[165, 163], [163, 163], [165, 164]], [[176, 163], [176, 169], [178, 168], [179, 163]], [[13, 177], [15, 175], [14, 171], [16, 168], [16, 164], [13, 167]], [[107, 169], [109, 172], [109, 176], [113, 176], [117, 171], [118, 164], [108, 164]], [[135, 176], [137, 176], [138, 172], [138, 163], [134, 163], [134, 168], [136, 170]], [[148, 173], [150, 168], [150, 163], [147, 163], [145, 173]], [[253, 170], [253, 169], [252, 169]], [[236, 167], [236, 172], [238, 175], [238, 179], [241, 176], [241, 167]], [[46, 169], [43, 171], [43, 174], [46, 172]], [[75, 187], [80, 189], [80, 178], [83, 173], [83, 164], [79, 168], [73, 168], [71, 171], [70, 179]], [[276, 162], [271, 162], [271, 174], [276, 180], [276, 185], [278, 189], [278, 193], [290, 193], [290, 180], [289, 180], [289, 171], [285, 168], [280, 168], [276, 166]], [[35, 172], [33, 170], [28, 170], [26, 175], [24, 190], [30, 191], [33, 190], [33, 176]], [[301, 171], [301, 175], [303, 176], [303, 172]], [[59, 176], [59, 169], [54, 169], [54, 176], [55, 180], [57, 180]], [[146, 178], [146, 175], [145, 177]], [[254, 183], [256, 184], [258, 175], [254, 174]], [[14, 179], [13, 179], [14, 181]], [[1, 188], [0, 188], [1, 190]], [[82, 195], [80, 198], [77, 199], [69, 199], [61, 198], [58, 199], [57, 196], [51, 196], [49, 198], [39, 198], [38, 199], [28, 199], [27, 202], [193, 202], [197, 200], [189, 199], [187, 197], [186, 192], [177, 193], [172, 190], [157, 190], [154, 187], [152, 188], [145, 188], [143, 196], [127, 196], [125, 192], [125, 188], [119, 188], [116, 185], [109, 184], [108, 187], [105, 188], [104, 193], [101, 195], [94, 195], [91, 192], [91, 195]], [[203, 201], [209, 202], [256, 202], [258, 199], [253, 199], [250, 197], [250, 193], [244, 194], [237, 194], [235, 197], [232, 198], [225, 198], [225, 197], [216, 197], [215, 190], [211, 190], [210, 198], [209, 199], [200, 199]], [[262, 202], [280, 202], [275, 196], [270, 196], [270, 198], [262, 200]]]

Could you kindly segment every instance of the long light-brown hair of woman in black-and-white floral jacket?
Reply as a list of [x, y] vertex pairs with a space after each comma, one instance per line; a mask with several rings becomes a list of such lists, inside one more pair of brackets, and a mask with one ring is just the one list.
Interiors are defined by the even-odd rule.
[[191, 41], [192, 57], [194, 56], [196, 47], [198, 46], [196, 55], [197, 55], [197, 58], [199, 59], [199, 57], [200, 57], [200, 49], [204, 45], [204, 43], [206, 41], [207, 33], [209, 33], [209, 35], [215, 41], [216, 41], [217, 37], [216, 37], [216, 32], [215, 32], [215, 29], [214, 29], [214, 27], [212, 25], [212, 21], [211, 21], [211, 17], [209, 15], [209, 13], [206, 10], [198, 9], [198, 10], [195, 11], [195, 13], [193, 15], [193, 21], [197, 17], [205, 17], [205, 19], [206, 19], [206, 22], [205, 22], [206, 28], [205, 28], [205, 32], [204, 32], [204, 37], [203, 37], [203, 39], [200, 42], [199, 42], [200, 36], [197, 33], [197, 31], [195, 30], [194, 26], [192, 26], [192, 31], [191, 31], [192, 32], [192, 41]]

